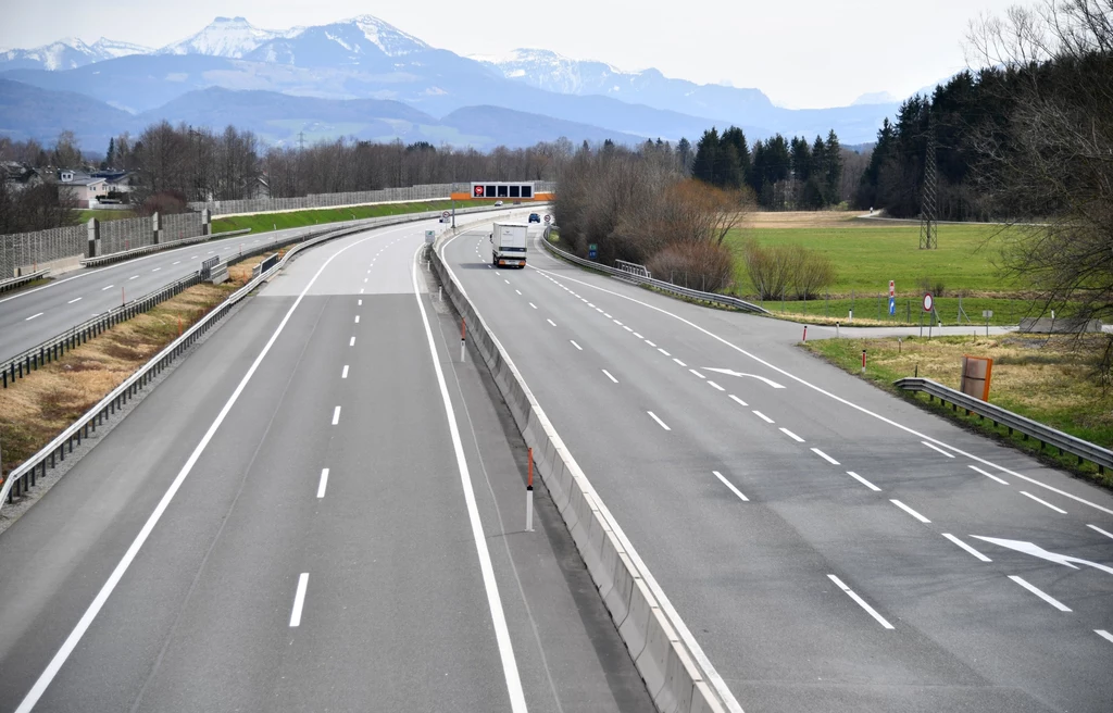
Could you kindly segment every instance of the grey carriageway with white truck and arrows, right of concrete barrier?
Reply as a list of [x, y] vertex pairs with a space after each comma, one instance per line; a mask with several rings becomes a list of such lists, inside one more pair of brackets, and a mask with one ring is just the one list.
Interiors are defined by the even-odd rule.
[[442, 248], [735, 710], [1113, 710], [1113, 496], [717, 311]]

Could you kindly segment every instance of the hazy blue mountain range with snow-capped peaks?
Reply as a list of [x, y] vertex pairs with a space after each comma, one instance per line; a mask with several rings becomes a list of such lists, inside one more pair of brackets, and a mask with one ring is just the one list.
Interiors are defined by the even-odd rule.
[[57, 133], [48, 127], [65, 125], [67, 115], [77, 123], [67, 101], [80, 95], [86, 110], [88, 101], [104, 105], [96, 112], [100, 130], [78, 131], [92, 143], [158, 119], [235, 123], [274, 143], [303, 132], [476, 148], [560, 136], [695, 141], [711, 126], [731, 123], [750, 139], [835, 129], [844, 142], [858, 143], [873, 140], [897, 108], [887, 97], [868, 96], [850, 107], [790, 110], [758, 89], [697, 85], [656, 69], [626, 72], [540, 49], [462, 57], [368, 14], [289, 30], [217, 18], [158, 49], [59, 40], [0, 51], [0, 80], [7, 80], [0, 133], [52, 140]]

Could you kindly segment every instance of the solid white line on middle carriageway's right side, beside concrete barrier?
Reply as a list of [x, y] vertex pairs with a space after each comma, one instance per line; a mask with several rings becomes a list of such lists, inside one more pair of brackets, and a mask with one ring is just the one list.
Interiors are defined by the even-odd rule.
[[499, 596], [499, 583], [494, 577], [494, 567], [491, 564], [491, 553], [487, 551], [486, 536], [483, 534], [483, 526], [480, 523], [480, 512], [475, 505], [475, 492], [472, 489], [472, 478], [467, 471], [467, 459], [464, 457], [464, 447], [460, 443], [460, 429], [456, 427], [456, 414], [452, 407], [452, 399], [449, 396], [449, 387], [444, 382], [444, 372], [441, 369], [441, 357], [436, 353], [436, 343], [433, 341], [433, 330], [429, 326], [429, 316], [425, 314], [425, 305], [421, 301], [421, 290], [417, 287], [417, 255], [425, 246], [414, 252], [413, 258], [413, 286], [414, 297], [417, 299], [417, 308], [421, 310], [421, 320], [425, 325], [425, 336], [429, 338], [429, 350], [433, 357], [433, 369], [436, 372], [436, 383], [441, 388], [441, 400], [444, 402], [444, 414], [449, 419], [449, 433], [452, 436], [452, 448], [456, 453], [456, 468], [460, 471], [460, 482], [464, 489], [464, 502], [467, 505], [467, 518], [472, 524], [472, 538], [475, 539], [475, 549], [480, 558], [480, 571], [483, 574], [483, 586], [486, 590], [487, 606], [491, 610], [491, 618], [494, 624], [495, 640], [499, 642], [499, 654], [502, 658], [502, 672], [506, 679], [506, 690], [510, 694], [510, 705], [514, 713], [525, 713], [525, 693], [522, 691], [522, 681], [518, 673], [518, 662], [514, 660], [514, 646], [510, 641], [510, 630], [506, 627], [506, 615], [502, 608], [502, 598]]

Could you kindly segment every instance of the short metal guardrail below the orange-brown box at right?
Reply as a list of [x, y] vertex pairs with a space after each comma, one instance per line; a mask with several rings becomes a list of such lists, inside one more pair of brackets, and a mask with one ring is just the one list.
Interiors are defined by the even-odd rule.
[[1015, 430], [1024, 434], [1025, 440], [1030, 437], [1035, 438], [1040, 442], [1041, 449], [1046, 444], [1058, 448], [1060, 455], [1070, 453], [1077, 456], [1080, 464], [1083, 461], [1090, 461], [1097, 466], [1099, 473], [1104, 473], [1105, 468], [1113, 468], [1113, 450], [1109, 448], [1102, 448], [1089, 440], [1083, 440], [1062, 430], [1056, 430], [1051, 426], [1025, 418], [1001, 406], [995, 406], [983, 402], [981, 398], [953, 389], [949, 386], [944, 386], [938, 382], [909, 376], [897, 379], [893, 385], [906, 392], [923, 392], [927, 394], [929, 403], [932, 399], [938, 398], [944, 405], [951, 404], [954, 410], [964, 408], [967, 416], [977, 414], [982, 418], [988, 418], [993, 422], [994, 426], [1007, 427], [1009, 435]]

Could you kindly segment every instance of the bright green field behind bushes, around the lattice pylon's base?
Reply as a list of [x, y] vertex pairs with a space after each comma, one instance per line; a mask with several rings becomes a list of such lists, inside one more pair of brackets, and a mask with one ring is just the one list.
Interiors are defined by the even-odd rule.
[[826, 254], [838, 273], [830, 293], [840, 297], [849, 297], [851, 290], [888, 295], [889, 280], [896, 281], [898, 296], [919, 295], [925, 279], [932, 289], [942, 284], [944, 295], [953, 290], [1007, 293], [1016, 285], [998, 267], [1003, 230], [1002, 226], [940, 225], [938, 249], [920, 250], [916, 226], [876, 227], [850, 220], [845, 228], [742, 228], [727, 236], [727, 245], [739, 256], [736, 280], [742, 293], [754, 291], [740, 257], [742, 241], [750, 237], [762, 245], [797, 244]]

